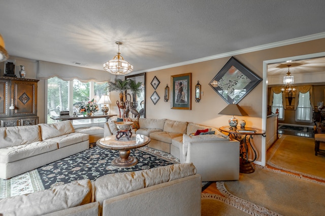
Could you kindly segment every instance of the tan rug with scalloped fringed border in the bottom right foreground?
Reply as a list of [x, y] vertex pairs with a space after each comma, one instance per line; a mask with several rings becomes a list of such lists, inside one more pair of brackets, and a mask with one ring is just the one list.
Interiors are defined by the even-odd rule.
[[262, 211], [260, 215], [324, 215], [325, 212], [325, 183], [265, 166], [255, 165], [252, 174], [240, 174], [239, 181], [218, 182], [217, 188], [226, 198], [254, 203], [264, 213], [268, 209], [267, 214]]

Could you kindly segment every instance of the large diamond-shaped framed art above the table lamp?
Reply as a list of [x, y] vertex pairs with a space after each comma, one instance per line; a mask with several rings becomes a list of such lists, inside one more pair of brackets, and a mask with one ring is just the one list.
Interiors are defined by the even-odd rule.
[[209, 85], [228, 104], [237, 104], [261, 81], [261, 77], [232, 57]]

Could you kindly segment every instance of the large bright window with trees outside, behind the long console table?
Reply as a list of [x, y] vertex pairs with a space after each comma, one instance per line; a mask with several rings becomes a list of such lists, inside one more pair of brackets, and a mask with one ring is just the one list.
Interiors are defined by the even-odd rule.
[[106, 94], [106, 87], [106, 82], [64, 81], [58, 77], [47, 79], [47, 123], [54, 122], [50, 117], [59, 116], [60, 111], [69, 110], [72, 115], [84, 102], [99, 101], [101, 95]]

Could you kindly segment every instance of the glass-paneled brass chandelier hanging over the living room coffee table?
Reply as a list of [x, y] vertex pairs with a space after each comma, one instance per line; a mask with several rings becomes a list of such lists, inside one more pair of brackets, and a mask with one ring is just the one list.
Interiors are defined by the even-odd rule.
[[122, 42], [116, 41], [115, 44], [118, 45], [118, 53], [112, 60], [104, 63], [104, 70], [116, 75], [131, 73], [133, 71], [133, 65], [125, 61], [120, 54], [120, 45]]

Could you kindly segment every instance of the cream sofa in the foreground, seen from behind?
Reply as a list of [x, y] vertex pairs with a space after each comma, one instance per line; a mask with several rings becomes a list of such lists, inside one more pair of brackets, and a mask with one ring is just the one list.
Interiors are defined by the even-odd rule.
[[0, 199], [7, 215], [201, 215], [201, 176], [192, 163], [109, 174]]

